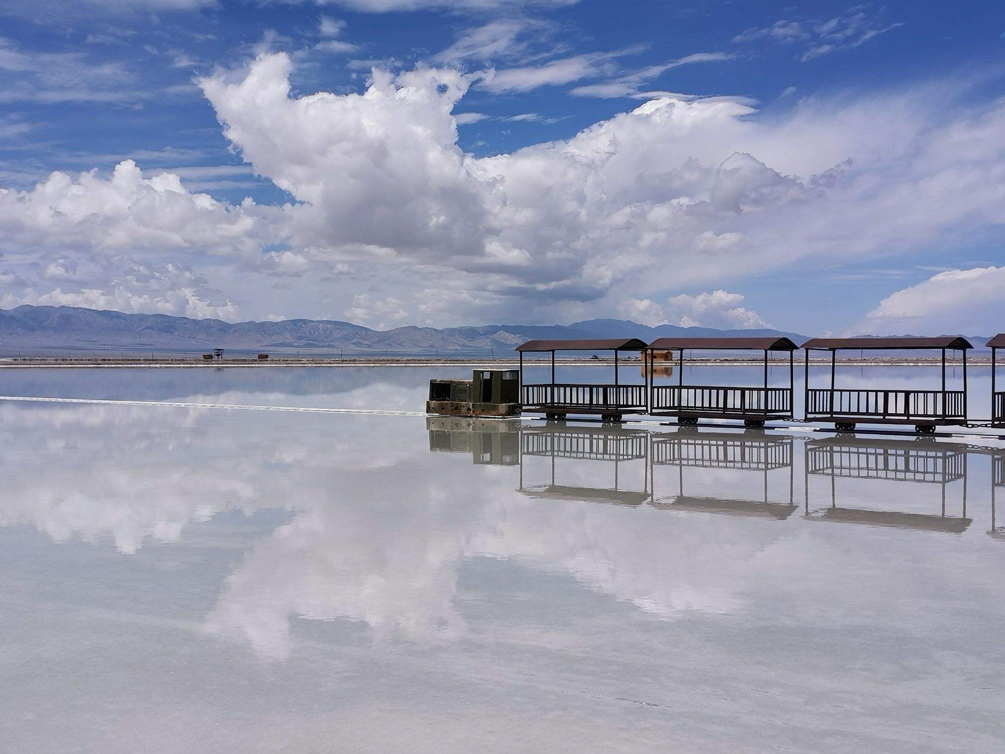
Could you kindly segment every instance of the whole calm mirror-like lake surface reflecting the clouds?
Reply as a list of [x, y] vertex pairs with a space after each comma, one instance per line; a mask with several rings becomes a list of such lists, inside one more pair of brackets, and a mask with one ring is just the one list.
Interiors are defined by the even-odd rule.
[[[415, 410], [434, 374], [0, 370], [0, 393]], [[1002, 748], [1000, 443], [0, 419], [4, 750]]]

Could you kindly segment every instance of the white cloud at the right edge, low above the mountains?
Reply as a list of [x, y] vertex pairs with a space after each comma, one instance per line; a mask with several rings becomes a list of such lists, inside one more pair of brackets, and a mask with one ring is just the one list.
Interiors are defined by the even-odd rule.
[[890, 294], [853, 333], [994, 335], [1005, 329], [1005, 266], [949, 269]]

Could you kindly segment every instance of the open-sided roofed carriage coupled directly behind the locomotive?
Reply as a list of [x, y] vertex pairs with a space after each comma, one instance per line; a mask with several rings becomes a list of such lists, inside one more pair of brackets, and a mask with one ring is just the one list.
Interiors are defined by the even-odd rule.
[[[647, 409], [645, 384], [620, 384], [618, 381], [618, 353], [631, 351], [644, 353], [646, 345], [638, 338], [578, 341], [528, 341], [517, 347], [520, 353], [521, 403], [524, 411], [543, 413], [549, 419], [565, 418], [570, 413], [600, 414], [604, 421], [620, 421], [626, 413], [645, 413]], [[556, 382], [555, 354], [558, 351], [613, 351], [614, 383]], [[524, 382], [524, 354], [550, 353], [551, 381], [527, 384]]]

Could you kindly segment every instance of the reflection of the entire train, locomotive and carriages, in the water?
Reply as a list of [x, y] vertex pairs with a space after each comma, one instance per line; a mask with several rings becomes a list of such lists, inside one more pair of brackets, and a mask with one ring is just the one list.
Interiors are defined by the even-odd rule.
[[[991, 463], [988, 534], [1005, 540], [996, 497], [1005, 488], [1005, 448], [933, 438], [838, 435], [818, 439], [763, 430], [652, 431], [565, 422], [429, 417], [429, 449], [470, 454], [474, 463], [517, 466], [518, 492], [549, 500], [667, 511], [789, 519], [797, 505], [795, 446], [803, 443], [804, 518], [962, 534], [968, 459], [980, 461], [982, 499]], [[975, 467], [976, 468], [976, 467]], [[667, 473], [667, 469], [674, 469]], [[821, 485], [823, 478], [826, 485]], [[925, 486], [929, 497], [900, 485]]]

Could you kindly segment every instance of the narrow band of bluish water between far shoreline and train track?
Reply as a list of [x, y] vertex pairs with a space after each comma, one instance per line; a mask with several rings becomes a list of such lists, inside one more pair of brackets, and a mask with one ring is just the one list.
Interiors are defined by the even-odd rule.
[[[289, 405], [337, 408], [383, 408], [423, 410], [429, 379], [432, 377], [470, 378], [465, 367], [196, 367], [196, 368], [93, 368], [93, 369], [0, 369], [0, 395], [61, 396], [106, 400], [168, 400], [194, 403]], [[797, 365], [795, 403], [802, 411], [803, 370]], [[991, 371], [988, 366], [968, 369], [970, 413], [987, 417], [991, 405]], [[679, 375], [657, 377], [657, 384], [676, 384]], [[528, 366], [525, 381], [549, 382], [549, 366]], [[613, 369], [602, 366], [559, 366], [557, 382], [610, 383]], [[642, 384], [641, 366], [619, 369], [621, 384]], [[685, 365], [683, 382], [688, 385], [764, 384], [760, 366]], [[789, 366], [772, 364], [772, 386], [787, 387]], [[830, 368], [810, 369], [811, 387], [827, 387]], [[841, 365], [837, 387], [938, 389], [942, 384], [939, 367], [892, 367]], [[947, 387], [959, 389], [962, 369], [950, 365]]]

